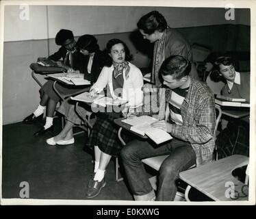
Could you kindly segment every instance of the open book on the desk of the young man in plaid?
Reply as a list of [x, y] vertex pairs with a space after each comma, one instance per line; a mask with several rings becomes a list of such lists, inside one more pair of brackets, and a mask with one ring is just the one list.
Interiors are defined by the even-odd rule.
[[156, 121], [157, 119], [151, 116], [135, 116], [131, 119], [128, 118], [122, 120], [123, 123], [132, 125], [130, 128], [131, 131], [134, 131], [142, 136], [148, 136], [156, 144], [161, 144], [163, 142], [171, 140], [172, 136], [170, 136], [170, 134], [166, 131], [151, 127], [151, 124], [155, 123]]

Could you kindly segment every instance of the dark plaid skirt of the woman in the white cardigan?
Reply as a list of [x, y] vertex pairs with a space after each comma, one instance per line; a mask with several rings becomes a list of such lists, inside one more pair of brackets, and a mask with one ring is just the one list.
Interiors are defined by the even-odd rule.
[[114, 113], [97, 115], [97, 120], [93, 126], [87, 145], [99, 146], [99, 149], [104, 153], [118, 156], [122, 146], [117, 135], [119, 127], [114, 123], [114, 118], [120, 117], [121, 114]]

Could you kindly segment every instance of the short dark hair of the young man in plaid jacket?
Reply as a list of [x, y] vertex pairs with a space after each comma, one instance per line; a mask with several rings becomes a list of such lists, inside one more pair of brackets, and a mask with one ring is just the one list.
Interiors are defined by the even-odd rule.
[[171, 55], [162, 63], [161, 75], [172, 75], [173, 79], [181, 79], [190, 74], [191, 64], [181, 55]]

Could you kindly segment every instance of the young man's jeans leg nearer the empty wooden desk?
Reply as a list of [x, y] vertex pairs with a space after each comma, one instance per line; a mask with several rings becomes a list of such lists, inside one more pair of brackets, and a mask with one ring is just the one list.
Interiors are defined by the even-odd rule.
[[177, 192], [175, 181], [179, 172], [196, 164], [196, 154], [188, 142], [172, 139], [168, 156], [159, 170], [156, 201], [173, 201]]

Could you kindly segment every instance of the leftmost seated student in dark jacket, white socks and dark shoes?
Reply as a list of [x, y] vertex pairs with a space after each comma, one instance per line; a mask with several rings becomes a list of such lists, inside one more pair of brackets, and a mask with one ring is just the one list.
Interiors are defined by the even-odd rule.
[[[57, 61], [57, 65], [66, 68], [66, 70], [72, 68], [77, 69], [79, 52], [77, 52], [77, 50], [75, 49], [76, 42], [73, 32], [68, 29], [61, 29], [56, 34], [55, 43], [57, 45], [60, 45], [61, 47], [56, 53], [50, 55], [48, 59]], [[58, 61], [61, 59], [63, 60], [63, 62]], [[25, 124], [35, 123], [36, 120], [42, 119], [44, 110], [47, 108], [47, 118], [45, 125], [44, 127], [42, 127], [42, 129], [40, 129], [40, 131], [37, 131], [34, 136], [40, 136], [48, 131], [53, 130], [53, 114], [57, 102], [60, 101], [60, 96], [58, 96], [55, 90], [53, 90], [53, 83], [54, 81], [52, 80], [44, 83], [44, 86], [42, 86], [40, 90], [42, 96], [38, 107], [32, 114], [30, 114], [23, 120], [23, 123]], [[59, 83], [57, 83], [57, 88], [62, 88], [62, 90], [65, 90], [66, 92], [75, 92], [75, 89], [62, 86]]]

